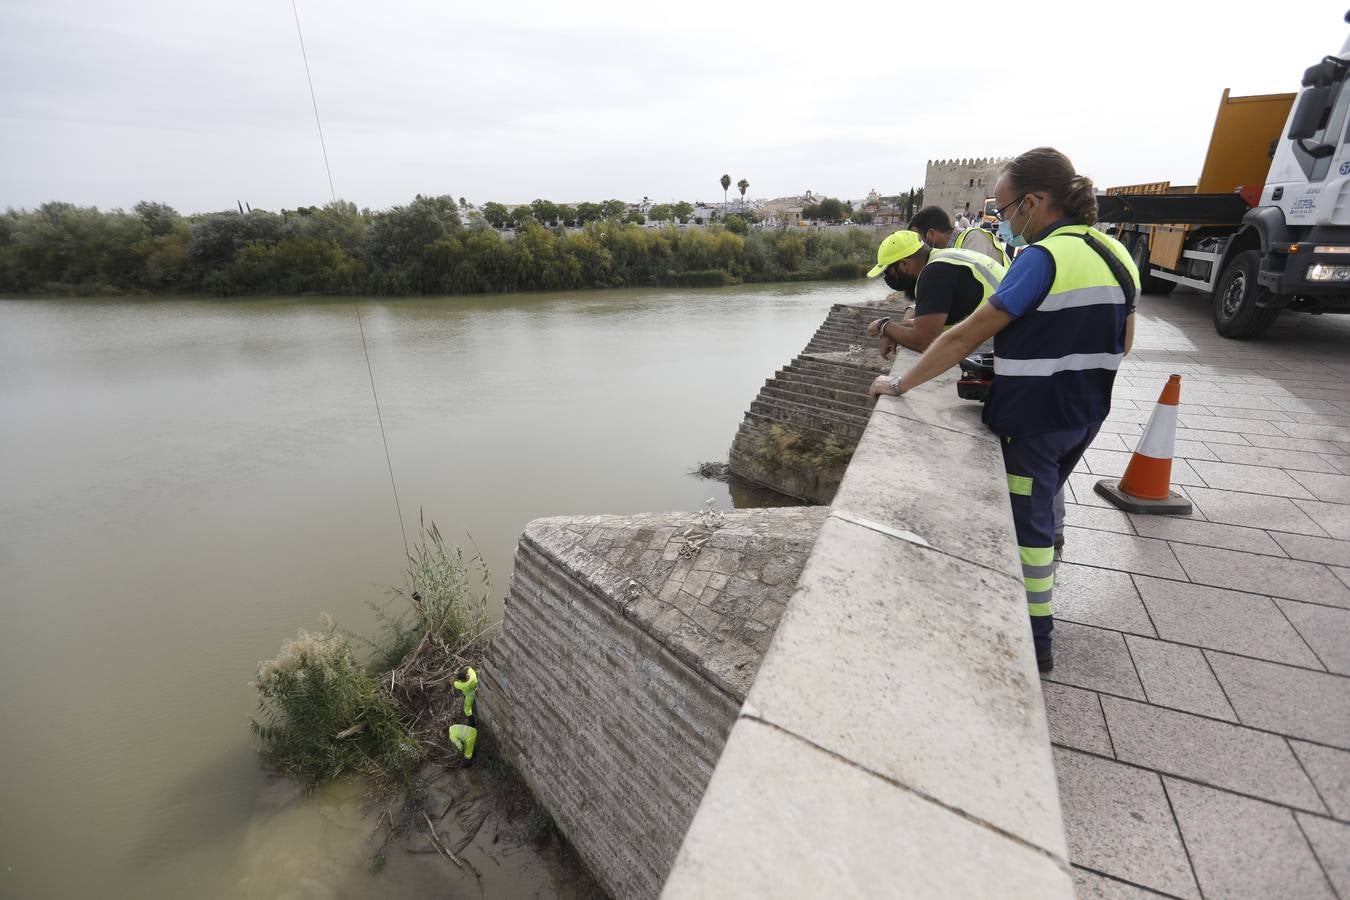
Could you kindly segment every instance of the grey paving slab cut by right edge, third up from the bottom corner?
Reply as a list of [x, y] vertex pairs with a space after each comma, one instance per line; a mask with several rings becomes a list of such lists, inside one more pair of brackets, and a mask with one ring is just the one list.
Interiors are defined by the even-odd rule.
[[1350, 681], [1278, 663], [1206, 650], [1238, 721], [1350, 750]]

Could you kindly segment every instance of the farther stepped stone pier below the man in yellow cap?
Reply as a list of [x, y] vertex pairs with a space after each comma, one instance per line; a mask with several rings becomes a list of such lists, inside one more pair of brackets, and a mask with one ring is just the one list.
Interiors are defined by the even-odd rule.
[[799, 356], [764, 382], [732, 441], [737, 478], [810, 503], [834, 498], [872, 414], [868, 386], [891, 362], [867, 322], [898, 316], [899, 300], [836, 304]]

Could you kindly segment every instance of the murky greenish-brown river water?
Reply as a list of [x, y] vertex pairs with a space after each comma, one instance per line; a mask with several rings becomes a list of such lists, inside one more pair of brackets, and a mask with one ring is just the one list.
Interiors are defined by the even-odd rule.
[[[875, 293], [875, 286], [871, 289]], [[861, 283], [362, 300], [402, 517], [500, 610], [532, 518], [694, 510], [763, 381]], [[404, 545], [352, 300], [0, 300], [0, 896], [377, 897], [348, 788], [247, 730], [298, 627], [371, 633]], [[396, 865], [397, 862], [397, 865]], [[558, 892], [518, 854], [508, 888]]]

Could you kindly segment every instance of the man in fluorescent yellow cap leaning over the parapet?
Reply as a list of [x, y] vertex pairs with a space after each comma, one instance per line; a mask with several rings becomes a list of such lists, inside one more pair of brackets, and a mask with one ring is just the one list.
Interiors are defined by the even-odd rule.
[[913, 317], [890, 316], [868, 324], [869, 337], [880, 340], [882, 356], [895, 347], [922, 354], [938, 335], [963, 321], [999, 289], [1007, 269], [973, 250], [934, 250], [913, 231], [898, 231], [876, 248], [876, 266], [868, 278], [886, 277], [899, 290], [914, 285]]

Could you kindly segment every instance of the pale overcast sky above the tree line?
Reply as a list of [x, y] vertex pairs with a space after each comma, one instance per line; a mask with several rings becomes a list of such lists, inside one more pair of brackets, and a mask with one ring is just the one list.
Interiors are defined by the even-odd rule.
[[[1064, 150], [1199, 173], [1215, 108], [1295, 90], [1346, 3], [297, 0], [338, 196], [721, 200]], [[734, 188], [732, 189], [734, 193]], [[290, 0], [0, 0], [0, 208], [329, 200]]]

